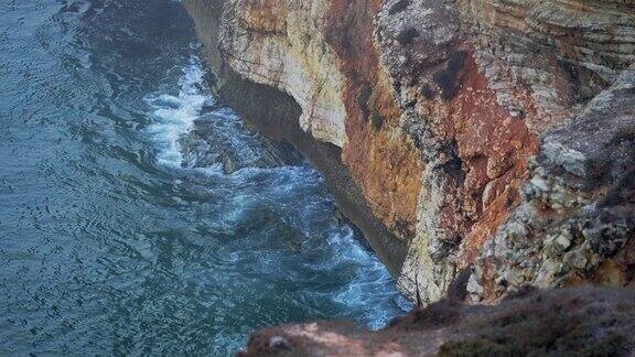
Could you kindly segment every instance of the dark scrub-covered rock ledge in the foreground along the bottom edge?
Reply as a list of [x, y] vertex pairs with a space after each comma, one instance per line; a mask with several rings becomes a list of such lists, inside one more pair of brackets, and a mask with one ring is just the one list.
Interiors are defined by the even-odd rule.
[[266, 328], [239, 356], [628, 356], [635, 291], [526, 292], [497, 306], [442, 301], [368, 332], [316, 322]]

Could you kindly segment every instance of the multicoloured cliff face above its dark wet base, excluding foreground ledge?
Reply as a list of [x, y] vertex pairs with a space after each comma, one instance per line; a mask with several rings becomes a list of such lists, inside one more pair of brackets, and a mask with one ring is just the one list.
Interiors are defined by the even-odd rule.
[[635, 1], [185, 3], [217, 72], [334, 148], [411, 300], [633, 280]]

